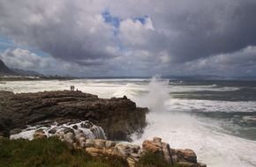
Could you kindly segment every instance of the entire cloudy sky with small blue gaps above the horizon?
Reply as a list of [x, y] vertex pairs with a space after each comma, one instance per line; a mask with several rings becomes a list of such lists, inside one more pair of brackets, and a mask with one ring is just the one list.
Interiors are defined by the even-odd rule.
[[0, 59], [64, 76], [256, 76], [256, 1], [0, 0]]

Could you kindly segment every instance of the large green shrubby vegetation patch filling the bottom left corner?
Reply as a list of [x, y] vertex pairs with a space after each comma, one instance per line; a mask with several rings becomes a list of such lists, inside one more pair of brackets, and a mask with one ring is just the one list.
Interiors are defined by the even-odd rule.
[[56, 138], [27, 140], [0, 139], [0, 167], [125, 167], [116, 156], [94, 158], [72, 149]]

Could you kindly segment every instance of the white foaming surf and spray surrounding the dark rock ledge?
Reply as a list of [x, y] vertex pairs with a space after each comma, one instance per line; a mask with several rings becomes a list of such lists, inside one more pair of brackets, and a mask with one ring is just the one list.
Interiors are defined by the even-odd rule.
[[[201, 112], [256, 112], [255, 102], [224, 102], [211, 100], [171, 98], [169, 92], [182, 91], [230, 91], [236, 87], [218, 88], [209, 86], [170, 87], [165, 81], [154, 78], [150, 84], [144, 79], [129, 80], [72, 80], [72, 81], [32, 81], [7, 82], [0, 84], [0, 90], [15, 92], [56, 91], [69, 89], [71, 84], [80, 91], [94, 93], [100, 98], [132, 98], [140, 106], [148, 106], [144, 134], [135, 143], [154, 136], [162, 137], [172, 148], [194, 149], [200, 161], [209, 167], [251, 167], [256, 166], [256, 142], [225, 133], [213, 120], [197, 118], [190, 114], [193, 110]], [[179, 113], [180, 112], [180, 113]], [[181, 113], [182, 112], [182, 113]], [[187, 113], [185, 113], [187, 112]]]

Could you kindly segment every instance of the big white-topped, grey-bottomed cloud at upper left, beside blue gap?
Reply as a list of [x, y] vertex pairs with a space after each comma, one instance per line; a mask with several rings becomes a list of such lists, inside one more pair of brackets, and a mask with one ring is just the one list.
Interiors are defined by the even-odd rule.
[[85, 65], [113, 56], [105, 49], [113, 44], [101, 13], [71, 1], [2, 1], [1, 6], [0, 33], [18, 43]]

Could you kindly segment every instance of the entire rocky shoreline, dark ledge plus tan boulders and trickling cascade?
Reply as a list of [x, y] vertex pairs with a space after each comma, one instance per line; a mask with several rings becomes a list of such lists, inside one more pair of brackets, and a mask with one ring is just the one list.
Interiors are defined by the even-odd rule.
[[142, 133], [147, 108], [126, 98], [98, 98], [81, 91], [18, 93], [0, 91], [0, 136], [12, 140], [57, 137], [91, 156], [116, 156], [130, 167], [152, 153], [170, 166], [206, 167], [192, 149], [171, 149], [154, 137], [142, 146], [127, 142]]

